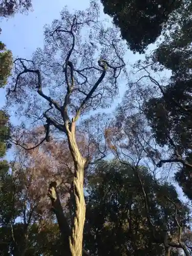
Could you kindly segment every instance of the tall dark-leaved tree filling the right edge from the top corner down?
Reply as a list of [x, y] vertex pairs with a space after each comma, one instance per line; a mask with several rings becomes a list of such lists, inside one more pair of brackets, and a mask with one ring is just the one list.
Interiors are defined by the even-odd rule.
[[[136, 68], [141, 72], [137, 86], [142, 88], [140, 105], [157, 143], [168, 146], [163, 163], [177, 163], [176, 181], [191, 200], [191, 3], [185, 5], [172, 33], [144, 62]], [[170, 79], [163, 77], [168, 69]], [[155, 74], [152, 75], [152, 72]], [[138, 85], [140, 83], [140, 85]]]

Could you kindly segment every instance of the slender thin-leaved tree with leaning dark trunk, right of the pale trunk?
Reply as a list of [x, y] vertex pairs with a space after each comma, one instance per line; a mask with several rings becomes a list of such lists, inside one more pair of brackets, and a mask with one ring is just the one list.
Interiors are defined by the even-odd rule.
[[[133, 88], [132, 88], [133, 89]], [[131, 91], [132, 91], [131, 89]], [[106, 131], [106, 136], [108, 136], [108, 145], [111, 148], [112, 152], [120, 161], [121, 164], [125, 164], [133, 168], [133, 172], [138, 179], [140, 184], [143, 198], [145, 199], [145, 210], [147, 214], [147, 223], [149, 228], [152, 231], [154, 240], [159, 243], [160, 241], [167, 241], [167, 231], [164, 232], [164, 240], [157, 238], [157, 229], [154, 225], [154, 221], [151, 220], [151, 211], [149, 202], [153, 201], [149, 198], [148, 191], [145, 191], [143, 181], [142, 181], [142, 172], [139, 168], [139, 165], [147, 166], [148, 170], [151, 170], [154, 180], [157, 184], [165, 184], [163, 181], [166, 178], [165, 175], [157, 175], [157, 164], [159, 159], [161, 159], [164, 155], [164, 152], [159, 150], [160, 148], [156, 146], [156, 142], [153, 139], [152, 133], [150, 131], [150, 127], [147, 125], [147, 120], [145, 119], [144, 114], [140, 110], [140, 105], [138, 104], [137, 97], [140, 97], [140, 93], [142, 95], [142, 90], [138, 91], [138, 94], [134, 92], [134, 95], [131, 91], [127, 91], [125, 97], [121, 104], [119, 104], [117, 108], [117, 112], [115, 113], [115, 119], [112, 122], [111, 129]], [[148, 94], [147, 94], [148, 95]], [[133, 97], [132, 97], [133, 96]], [[134, 107], [134, 104], [137, 103]], [[130, 111], [132, 110], [132, 112]], [[130, 164], [127, 163], [127, 159], [130, 161]], [[165, 171], [166, 172], [166, 169]], [[152, 182], [152, 181], [151, 181]], [[153, 186], [153, 182], [152, 182]], [[163, 191], [162, 191], [163, 193]], [[169, 197], [166, 197], [166, 200], [170, 200]], [[173, 197], [174, 198], [174, 197]], [[174, 204], [174, 201], [170, 200], [170, 203]], [[177, 204], [175, 205], [175, 211], [177, 212]], [[167, 217], [169, 219], [169, 217]], [[182, 230], [182, 223], [177, 223], [178, 234], [184, 232]], [[179, 231], [180, 230], [180, 231]], [[165, 249], [167, 250], [167, 255], [170, 253], [170, 248], [172, 245], [175, 248], [184, 249], [185, 254], [189, 255], [187, 246], [181, 239], [181, 236], [176, 235], [177, 240], [175, 240], [175, 244], [167, 244], [164, 243]]]

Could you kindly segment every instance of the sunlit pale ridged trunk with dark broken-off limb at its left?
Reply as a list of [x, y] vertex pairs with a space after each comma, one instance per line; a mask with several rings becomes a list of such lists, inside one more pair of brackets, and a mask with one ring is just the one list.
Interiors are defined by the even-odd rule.
[[57, 187], [64, 182], [62, 179], [51, 182], [48, 190], [48, 196], [52, 201], [52, 209], [55, 212], [59, 229], [61, 231], [63, 245], [65, 246], [66, 256], [82, 256], [89, 255], [83, 250], [83, 228], [86, 218], [86, 203], [84, 201], [84, 167], [86, 159], [79, 152], [75, 138], [75, 122], [71, 125], [66, 124], [66, 134], [68, 137], [69, 149], [74, 161], [74, 175], [71, 187], [71, 200], [74, 208], [74, 216], [72, 217], [72, 230], [69, 228], [67, 219], [63, 213], [60, 203]]

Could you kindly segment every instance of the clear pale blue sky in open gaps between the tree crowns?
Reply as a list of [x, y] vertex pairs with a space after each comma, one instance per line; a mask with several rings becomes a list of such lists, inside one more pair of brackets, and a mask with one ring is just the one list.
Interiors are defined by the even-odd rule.
[[[30, 59], [36, 48], [43, 46], [45, 24], [51, 24], [53, 19], [59, 18], [60, 11], [64, 6], [67, 5], [70, 11], [74, 9], [84, 10], [89, 7], [89, 0], [32, 0], [32, 4], [33, 11], [27, 15], [18, 13], [12, 18], [3, 19], [0, 22], [0, 27], [2, 28], [1, 41], [4, 42], [7, 49], [12, 51], [14, 57]], [[102, 12], [102, 9], [101, 5], [101, 19], [110, 19], [108, 15]], [[150, 47], [149, 50], [153, 48], [154, 46]], [[131, 51], [127, 50], [124, 58], [126, 61], [129, 60], [130, 63], [134, 63], [137, 59], [143, 58], [143, 56], [134, 55]], [[125, 89], [125, 86], [122, 84], [120, 88], [121, 97]], [[0, 89], [0, 109], [5, 103], [5, 95], [5, 89]], [[8, 158], [10, 157], [11, 155], [8, 155]]]

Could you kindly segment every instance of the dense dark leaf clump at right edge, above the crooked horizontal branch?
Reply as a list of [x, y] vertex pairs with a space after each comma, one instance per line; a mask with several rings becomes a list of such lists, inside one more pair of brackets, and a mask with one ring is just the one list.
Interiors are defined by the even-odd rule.
[[164, 95], [161, 98], [152, 98], [144, 105], [157, 142], [167, 144], [168, 137], [172, 134], [180, 154], [192, 149], [191, 89], [191, 81], [178, 78], [163, 87]]

